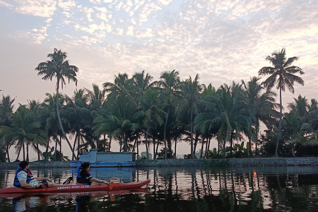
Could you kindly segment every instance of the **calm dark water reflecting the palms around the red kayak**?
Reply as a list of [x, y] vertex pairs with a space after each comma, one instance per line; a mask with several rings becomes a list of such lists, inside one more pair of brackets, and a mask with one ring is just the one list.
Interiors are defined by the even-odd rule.
[[[33, 167], [34, 168], [34, 167]], [[33, 169], [56, 183], [75, 169]], [[0, 212], [317, 212], [318, 167], [98, 168], [95, 178], [115, 182], [151, 179], [134, 191], [60, 193], [0, 198]], [[15, 170], [0, 170], [0, 188]]]

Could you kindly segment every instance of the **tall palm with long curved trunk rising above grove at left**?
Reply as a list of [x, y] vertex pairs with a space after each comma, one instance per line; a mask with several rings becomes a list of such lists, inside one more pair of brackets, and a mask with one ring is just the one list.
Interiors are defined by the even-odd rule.
[[60, 88], [60, 83], [61, 83], [61, 88], [63, 90], [63, 85], [66, 85], [65, 78], [69, 80], [74, 81], [75, 85], [77, 86], [78, 84], [78, 79], [76, 78], [76, 72], [79, 71], [79, 69], [76, 66], [71, 66], [69, 61], [66, 60], [67, 58], [67, 53], [62, 52], [61, 50], [54, 49], [53, 54], [48, 54], [47, 56], [50, 58], [50, 60], [46, 62], [42, 62], [38, 65], [38, 67], [35, 68], [35, 71], [38, 71], [38, 76], [44, 75], [42, 79], [48, 80], [50, 79], [52, 81], [53, 77], [57, 78], [57, 83], [56, 83], [56, 111], [58, 115], [58, 120], [60, 123], [60, 127], [63, 133], [63, 136], [65, 137], [66, 141], [68, 142], [73, 156], [76, 158], [74, 149], [72, 148], [72, 145], [70, 141], [68, 140], [67, 136], [65, 135], [62, 122], [61, 122], [61, 117], [60, 117], [60, 112], [59, 112], [59, 88]]

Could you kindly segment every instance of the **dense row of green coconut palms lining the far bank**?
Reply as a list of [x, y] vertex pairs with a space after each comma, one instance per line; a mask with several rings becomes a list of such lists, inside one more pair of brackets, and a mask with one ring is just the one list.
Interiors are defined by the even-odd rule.
[[[14, 99], [2, 95], [1, 161], [10, 161], [12, 146], [16, 158], [22, 150], [23, 159], [29, 160], [31, 147], [38, 160], [41, 156], [65, 160], [62, 141], [67, 141], [72, 159], [90, 148], [110, 151], [113, 142], [119, 143], [120, 151], [138, 155], [139, 146], [146, 145], [147, 158], [151, 151], [154, 159], [175, 158], [178, 142], [191, 147], [185, 158], [317, 155], [317, 100], [299, 95], [283, 112], [282, 91], [294, 93], [295, 82], [304, 85], [295, 75], [304, 72], [292, 65], [298, 58], [287, 59], [285, 49], [266, 58], [272, 66], [258, 71], [269, 75], [263, 82], [253, 76], [216, 88], [201, 84], [198, 74], [181, 80], [178, 71], [163, 71], [154, 81], [149, 73], [140, 71], [131, 78], [118, 73], [114, 82], [76, 89], [71, 96], [59, 89], [67, 80], [77, 84], [79, 69], [69, 64], [67, 53], [61, 50], [54, 49], [48, 58], [35, 70], [42, 79], [57, 80], [56, 93], [46, 93], [42, 102], [29, 100], [16, 111]], [[276, 103], [274, 86], [280, 103]], [[261, 123], [266, 126], [263, 132]], [[211, 149], [211, 141], [218, 148]], [[40, 146], [46, 147], [45, 152]]]

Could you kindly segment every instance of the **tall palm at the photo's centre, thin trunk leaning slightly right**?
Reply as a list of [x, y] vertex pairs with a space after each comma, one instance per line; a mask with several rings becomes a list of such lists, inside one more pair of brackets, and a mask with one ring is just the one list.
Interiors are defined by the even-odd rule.
[[[166, 146], [166, 128], [170, 110], [173, 106], [177, 105], [177, 92], [180, 84], [180, 77], [178, 71], [164, 71], [161, 72], [159, 86], [163, 87], [164, 102], [167, 104], [167, 115], [165, 117], [163, 142], [164, 142], [164, 159], [167, 159], [167, 146]], [[169, 151], [171, 152], [171, 142], [168, 144]]]

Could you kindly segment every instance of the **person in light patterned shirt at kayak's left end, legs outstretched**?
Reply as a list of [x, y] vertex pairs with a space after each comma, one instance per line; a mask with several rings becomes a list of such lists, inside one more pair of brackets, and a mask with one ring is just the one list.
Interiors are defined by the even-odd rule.
[[19, 167], [15, 172], [13, 187], [34, 189], [41, 188], [42, 185], [45, 185], [47, 188], [52, 188], [67, 185], [73, 180], [73, 177], [69, 177], [63, 185], [53, 183], [48, 177], [33, 177], [29, 168], [30, 164], [28, 161], [21, 161], [19, 163]]

